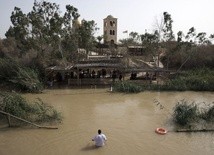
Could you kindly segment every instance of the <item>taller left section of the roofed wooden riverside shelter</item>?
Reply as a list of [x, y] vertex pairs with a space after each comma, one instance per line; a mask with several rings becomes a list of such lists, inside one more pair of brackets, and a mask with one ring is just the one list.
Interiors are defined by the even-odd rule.
[[85, 60], [68, 66], [51, 66], [46, 68], [47, 83], [82, 85], [109, 85], [115, 78], [125, 72], [119, 59]]

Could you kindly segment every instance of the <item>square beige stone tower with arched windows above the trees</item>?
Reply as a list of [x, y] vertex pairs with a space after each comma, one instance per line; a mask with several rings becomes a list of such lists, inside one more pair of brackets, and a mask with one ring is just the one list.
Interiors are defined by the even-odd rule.
[[112, 15], [103, 19], [103, 38], [105, 44], [117, 44], [117, 18]]

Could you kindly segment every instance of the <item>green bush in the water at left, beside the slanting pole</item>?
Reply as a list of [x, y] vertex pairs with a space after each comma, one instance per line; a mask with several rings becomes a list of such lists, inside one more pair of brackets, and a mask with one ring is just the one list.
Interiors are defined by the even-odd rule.
[[60, 122], [61, 114], [41, 99], [29, 103], [17, 93], [0, 94], [0, 110], [31, 122]]

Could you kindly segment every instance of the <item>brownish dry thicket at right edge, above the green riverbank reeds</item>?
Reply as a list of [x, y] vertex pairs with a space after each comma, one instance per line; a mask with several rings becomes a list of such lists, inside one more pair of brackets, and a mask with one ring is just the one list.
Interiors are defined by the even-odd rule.
[[194, 45], [188, 42], [171, 43], [170, 51], [161, 57], [168, 69], [191, 70], [194, 68], [214, 68], [214, 46]]

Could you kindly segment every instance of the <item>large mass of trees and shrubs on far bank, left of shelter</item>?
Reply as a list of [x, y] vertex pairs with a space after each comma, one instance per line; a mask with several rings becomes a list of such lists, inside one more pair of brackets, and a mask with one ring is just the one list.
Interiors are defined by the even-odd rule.
[[27, 14], [15, 7], [12, 26], [0, 39], [0, 86], [38, 92], [45, 82], [45, 68], [85, 58], [77, 49], [88, 52], [93, 47], [97, 28], [93, 20], [80, 22], [79, 16], [71, 5], [62, 14], [59, 5], [46, 1], [34, 1]]

